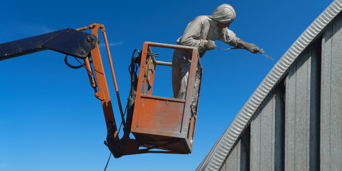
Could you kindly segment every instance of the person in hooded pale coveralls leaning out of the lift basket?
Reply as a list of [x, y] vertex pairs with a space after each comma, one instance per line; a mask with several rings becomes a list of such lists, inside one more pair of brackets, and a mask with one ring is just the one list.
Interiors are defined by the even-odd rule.
[[[247, 43], [236, 37], [232, 30], [227, 27], [236, 17], [235, 10], [231, 5], [222, 4], [211, 15], [201, 15], [193, 19], [186, 27], [183, 36], [176, 43], [198, 49], [198, 56], [203, 57], [207, 50], [215, 49], [215, 40], [223, 41], [234, 47], [245, 47], [252, 53], [258, 53], [259, 48], [252, 43]], [[187, 82], [190, 70], [192, 52], [174, 50], [172, 58], [172, 88], [173, 96], [185, 99]], [[195, 111], [198, 88], [200, 83], [200, 64], [197, 65], [194, 82], [192, 110]], [[196, 111], [195, 111], [196, 112]]]

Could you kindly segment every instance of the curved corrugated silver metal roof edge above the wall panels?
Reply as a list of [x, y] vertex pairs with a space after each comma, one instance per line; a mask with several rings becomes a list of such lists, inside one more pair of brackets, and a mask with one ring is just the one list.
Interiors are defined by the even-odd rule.
[[342, 10], [342, 0], [333, 1], [315, 21], [302, 33], [267, 74], [246, 104], [241, 108], [229, 127], [215, 143], [196, 170], [219, 170], [226, 157], [232, 152], [241, 133], [249, 126], [253, 115], [265, 98], [287, 74], [294, 60], [314, 39], [319, 37], [331, 20]]

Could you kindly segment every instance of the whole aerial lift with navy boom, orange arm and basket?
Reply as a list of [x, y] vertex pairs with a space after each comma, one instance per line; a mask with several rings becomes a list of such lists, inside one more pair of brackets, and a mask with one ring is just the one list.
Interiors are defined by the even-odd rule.
[[[82, 30], [86, 29], [91, 29], [91, 34], [82, 32]], [[97, 37], [99, 29], [101, 29], [103, 33], [121, 114], [121, 122], [124, 126], [124, 134], [121, 139], [118, 137], [117, 124], [114, 118], [108, 84], [98, 45]], [[187, 94], [185, 100], [152, 96], [156, 66], [171, 66], [172, 64], [156, 61], [154, 56], [159, 57], [159, 55], [152, 53], [150, 47], [179, 49], [193, 53], [187, 90], [187, 92], [190, 93]], [[101, 101], [104, 112], [107, 127], [107, 141], [105, 144], [113, 153], [114, 157], [118, 158], [122, 155], [142, 153], [188, 154], [192, 152], [197, 107], [195, 111], [191, 110], [190, 102], [192, 100], [196, 66], [198, 63], [200, 65], [197, 48], [153, 42], [144, 43], [143, 50], [140, 52], [139, 56], [132, 56], [130, 71], [132, 79], [131, 93], [130, 98], [128, 99], [126, 121], [124, 119], [104, 25], [94, 23], [88, 27], [82, 27], [76, 30], [67, 28], [39, 36], [2, 43], [0, 44], [0, 61], [42, 50], [54, 50], [66, 54], [65, 63], [69, 67], [85, 67], [87, 69], [91, 87], [95, 92], [94, 95]], [[82, 59], [84, 64], [81, 63], [81, 65], [77, 67], [71, 66], [67, 63], [68, 55], [73, 56], [76, 59]], [[90, 61], [90, 58], [92, 61]], [[91, 63], [93, 63], [93, 68], [91, 67]], [[139, 73], [141, 74], [139, 75], [139, 79], [136, 76], [137, 69], [134, 73], [134, 68], [132, 68], [135, 64], [139, 64], [140, 66]], [[198, 69], [200, 69], [200, 73], [202, 73], [202, 67]], [[135, 99], [135, 97], [137, 97], [137, 99]], [[145, 105], [148, 107], [144, 108]], [[173, 108], [166, 110], [168, 106], [172, 106]], [[150, 116], [160, 116], [161, 119], [156, 120]], [[133, 133], [136, 140], [130, 139], [130, 133]], [[139, 149], [139, 147], [146, 148]], [[151, 149], [162, 149], [162, 151], [152, 151]]]

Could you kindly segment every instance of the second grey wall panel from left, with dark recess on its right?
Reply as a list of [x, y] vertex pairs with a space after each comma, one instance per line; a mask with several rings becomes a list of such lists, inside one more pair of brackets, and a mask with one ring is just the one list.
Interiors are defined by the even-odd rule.
[[250, 170], [284, 168], [284, 91], [282, 84], [254, 116], [250, 130]]

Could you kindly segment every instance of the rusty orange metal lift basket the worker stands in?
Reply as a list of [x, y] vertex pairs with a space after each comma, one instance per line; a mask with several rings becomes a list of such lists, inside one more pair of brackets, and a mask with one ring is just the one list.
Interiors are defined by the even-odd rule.
[[[145, 42], [139, 72], [143, 74], [140, 74], [138, 79], [131, 131], [136, 140], [145, 144], [143, 145], [145, 147], [152, 147], [154, 144], [158, 145], [156, 148], [166, 149], [171, 153], [191, 153], [197, 117], [190, 111], [192, 95], [189, 93], [189, 97], [185, 100], [152, 95], [156, 65], [158, 63], [169, 66], [172, 64], [157, 62], [150, 46], [192, 51], [188, 91], [192, 92], [193, 89], [198, 61], [197, 48]], [[173, 142], [172, 139], [177, 141]]]

